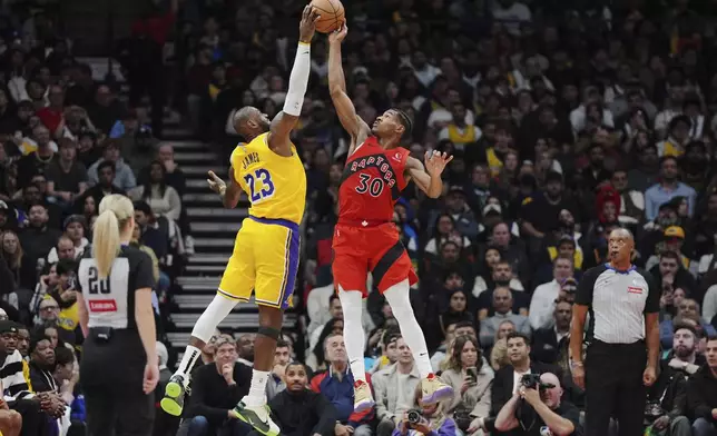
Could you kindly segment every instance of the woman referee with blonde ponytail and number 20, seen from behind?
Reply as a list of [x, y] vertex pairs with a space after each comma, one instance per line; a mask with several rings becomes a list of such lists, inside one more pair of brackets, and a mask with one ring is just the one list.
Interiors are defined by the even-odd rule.
[[159, 379], [151, 259], [127, 245], [135, 228], [129, 198], [107, 196], [99, 212], [91, 257], [86, 252], [77, 274], [88, 435], [148, 436]]

